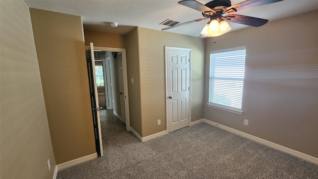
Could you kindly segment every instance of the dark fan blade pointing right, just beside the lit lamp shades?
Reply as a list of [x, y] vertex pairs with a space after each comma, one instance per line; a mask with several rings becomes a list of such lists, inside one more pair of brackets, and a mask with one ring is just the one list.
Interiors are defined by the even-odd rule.
[[235, 22], [235, 23], [240, 23], [240, 24], [249, 25], [253, 27], [259, 27], [268, 22], [267, 19], [250, 17], [246, 15], [239, 15], [239, 14], [229, 14], [226, 16], [224, 20], [228, 22]]

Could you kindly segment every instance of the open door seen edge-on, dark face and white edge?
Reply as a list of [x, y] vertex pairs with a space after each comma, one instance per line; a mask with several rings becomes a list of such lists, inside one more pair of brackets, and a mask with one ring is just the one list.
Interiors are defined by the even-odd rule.
[[94, 48], [93, 43], [90, 43], [89, 49], [86, 50], [86, 61], [87, 61], [90, 103], [91, 103], [91, 111], [93, 116], [96, 152], [98, 157], [103, 157], [103, 144], [102, 144], [102, 138], [101, 138], [98, 93], [97, 93], [97, 85], [96, 85], [96, 78], [95, 78], [95, 62], [94, 62], [95, 58], [94, 58], [93, 48]]

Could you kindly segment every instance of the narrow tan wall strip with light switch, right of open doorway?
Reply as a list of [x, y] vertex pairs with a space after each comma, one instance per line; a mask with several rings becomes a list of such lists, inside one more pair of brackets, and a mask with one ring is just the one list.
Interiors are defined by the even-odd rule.
[[[141, 135], [141, 104], [140, 104], [140, 76], [139, 76], [139, 42], [138, 29], [133, 29], [126, 35], [127, 80], [129, 93], [130, 126]], [[134, 79], [134, 84], [131, 79]]]

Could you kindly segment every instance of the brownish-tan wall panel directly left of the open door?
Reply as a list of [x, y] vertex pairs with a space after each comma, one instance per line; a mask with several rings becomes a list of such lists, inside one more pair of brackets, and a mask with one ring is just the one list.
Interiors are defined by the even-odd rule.
[[56, 163], [94, 154], [81, 17], [30, 12]]

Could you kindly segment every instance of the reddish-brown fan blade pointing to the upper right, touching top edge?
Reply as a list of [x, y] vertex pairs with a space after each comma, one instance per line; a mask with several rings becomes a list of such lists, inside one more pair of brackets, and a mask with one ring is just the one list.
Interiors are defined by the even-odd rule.
[[240, 12], [250, 8], [275, 3], [278, 1], [282, 1], [282, 0], [245, 0], [241, 3], [227, 7], [226, 9], [224, 9], [224, 13]]

